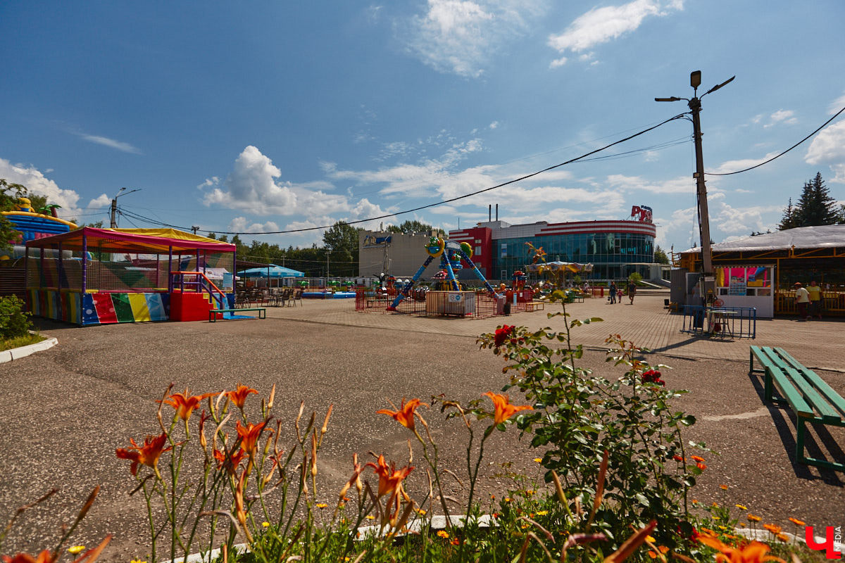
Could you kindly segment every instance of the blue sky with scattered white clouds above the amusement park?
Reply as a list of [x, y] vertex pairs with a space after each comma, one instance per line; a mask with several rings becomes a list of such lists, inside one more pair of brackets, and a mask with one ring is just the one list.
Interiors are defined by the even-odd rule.
[[[0, 177], [108, 225], [259, 233], [495, 186], [687, 111], [707, 172], [782, 152], [845, 106], [845, 3], [818, 0], [37, 2], [0, 6]], [[412, 214], [446, 230], [625, 219], [697, 241], [691, 123]], [[624, 154], [622, 154], [624, 153]], [[774, 230], [817, 171], [845, 202], [845, 114], [754, 171], [709, 176], [712, 238]], [[155, 226], [121, 217], [121, 227]], [[321, 230], [242, 235], [310, 246]]]

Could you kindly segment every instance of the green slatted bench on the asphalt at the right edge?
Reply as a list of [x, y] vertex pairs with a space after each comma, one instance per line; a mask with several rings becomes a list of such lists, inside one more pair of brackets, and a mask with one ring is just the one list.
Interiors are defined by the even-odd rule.
[[[762, 366], [755, 369], [754, 362]], [[820, 468], [845, 471], [845, 463], [828, 462], [824, 459], [804, 456], [805, 424], [808, 422], [845, 426], [845, 398], [842, 398], [815, 371], [807, 369], [782, 348], [751, 346], [749, 354], [750, 373], [764, 373], [763, 396], [766, 401], [786, 404], [796, 416], [797, 457], [799, 463]], [[780, 394], [775, 396], [774, 390]]]

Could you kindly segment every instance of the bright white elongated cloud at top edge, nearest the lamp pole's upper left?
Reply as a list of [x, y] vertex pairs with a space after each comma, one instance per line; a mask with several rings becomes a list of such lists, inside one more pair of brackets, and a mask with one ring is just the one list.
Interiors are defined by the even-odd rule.
[[588, 51], [636, 30], [648, 17], [666, 16], [683, 8], [682, 2], [660, 0], [634, 0], [621, 6], [593, 8], [575, 19], [563, 33], [551, 35], [548, 45], [559, 53]]

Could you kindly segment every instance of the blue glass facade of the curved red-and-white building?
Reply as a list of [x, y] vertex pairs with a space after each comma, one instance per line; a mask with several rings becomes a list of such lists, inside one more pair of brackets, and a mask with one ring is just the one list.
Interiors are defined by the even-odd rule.
[[493, 241], [493, 276], [510, 279], [515, 270], [532, 262], [532, 251], [542, 246], [546, 261], [592, 263], [591, 279], [621, 279], [630, 273], [648, 277], [646, 264], [654, 262], [654, 237], [634, 233], [584, 233], [526, 236]]

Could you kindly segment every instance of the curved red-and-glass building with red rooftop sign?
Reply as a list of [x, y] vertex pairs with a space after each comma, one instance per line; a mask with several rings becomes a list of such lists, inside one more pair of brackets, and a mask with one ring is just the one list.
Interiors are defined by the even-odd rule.
[[472, 229], [450, 230], [449, 239], [472, 246], [472, 261], [488, 279], [510, 279], [516, 270], [525, 270], [532, 263], [526, 242], [542, 246], [547, 262], [592, 263], [593, 279], [624, 279], [634, 272], [644, 279], [660, 277], [652, 275], [657, 229], [651, 223], [651, 209], [635, 207], [631, 216], [633, 220], [528, 225], [488, 221]]

